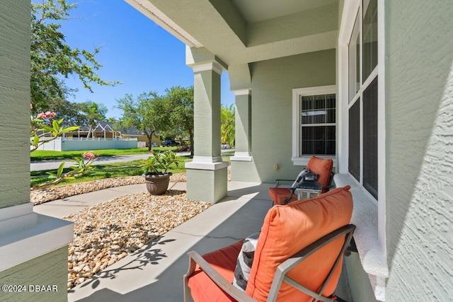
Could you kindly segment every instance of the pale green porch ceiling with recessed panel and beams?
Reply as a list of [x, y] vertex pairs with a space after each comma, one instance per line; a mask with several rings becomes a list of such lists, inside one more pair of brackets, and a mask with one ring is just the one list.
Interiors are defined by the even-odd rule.
[[126, 0], [226, 65], [336, 47], [338, 0]]

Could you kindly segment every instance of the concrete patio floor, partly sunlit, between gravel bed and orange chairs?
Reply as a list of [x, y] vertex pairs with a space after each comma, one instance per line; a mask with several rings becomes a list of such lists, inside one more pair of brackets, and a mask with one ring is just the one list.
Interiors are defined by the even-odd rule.
[[[173, 187], [185, 190], [184, 185], [178, 182]], [[260, 231], [264, 216], [271, 207], [270, 186], [273, 185], [229, 182], [228, 196], [222, 202], [74, 287], [68, 292], [68, 301], [183, 301], [183, 274], [188, 269], [186, 253], [195, 250], [202, 255]], [[79, 197], [82, 199], [86, 200]], [[55, 207], [61, 205], [55, 204]], [[79, 204], [74, 209], [81, 207]], [[42, 211], [48, 213], [51, 209]], [[347, 277], [343, 276], [337, 294], [351, 301], [345, 280]]]

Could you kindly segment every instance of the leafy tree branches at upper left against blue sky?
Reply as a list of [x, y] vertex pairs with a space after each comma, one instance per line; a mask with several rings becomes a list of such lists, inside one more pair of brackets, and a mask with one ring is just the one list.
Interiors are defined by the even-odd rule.
[[67, 97], [74, 89], [66, 86], [64, 79], [76, 75], [84, 87], [92, 91], [91, 83], [113, 86], [118, 81], [103, 81], [96, 71], [101, 64], [93, 52], [71, 48], [61, 32], [62, 21], [69, 19], [69, 11], [77, 4], [66, 0], [43, 0], [31, 4], [30, 88], [33, 113], [55, 111], [69, 122], [68, 115], [75, 115], [73, 103]]

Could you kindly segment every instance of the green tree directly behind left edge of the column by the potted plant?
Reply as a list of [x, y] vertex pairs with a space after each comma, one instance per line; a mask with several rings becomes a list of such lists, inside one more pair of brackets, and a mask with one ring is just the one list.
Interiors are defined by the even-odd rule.
[[193, 86], [173, 86], [165, 92], [165, 105], [170, 112], [169, 129], [173, 133], [180, 132], [181, 137], [189, 138], [190, 153], [193, 156]]

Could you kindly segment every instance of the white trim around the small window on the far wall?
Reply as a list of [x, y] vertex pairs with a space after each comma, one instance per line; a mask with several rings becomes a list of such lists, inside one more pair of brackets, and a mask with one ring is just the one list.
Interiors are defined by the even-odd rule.
[[[301, 96], [306, 95], [321, 95], [321, 94], [335, 94], [337, 93], [336, 85], [316, 86], [306, 88], [296, 88], [292, 90], [292, 161], [294, 165], [306, 165], [311, 156], [299, 156], [301, 153]], [[337, 98], [337, 96], [336, 96]], [[336, 100], [338, 104], [338, 100]], [[338, 110], [338, 105], [336, 105]], [[338, 117], [338, 114], [336, 115]], [[336, 122], [336, 125], [338, 122]], [[333, 165], [336, 166], [335, 156], [319, 156], [321, 158], [332, 158]]]

